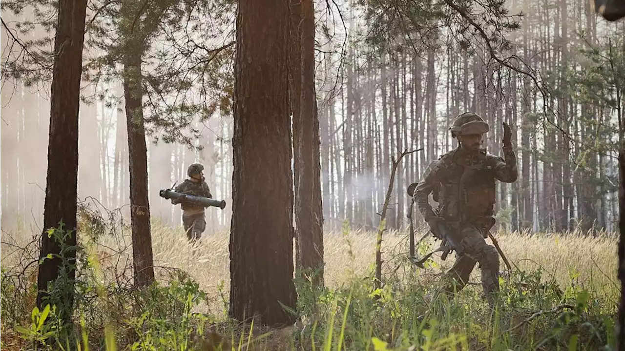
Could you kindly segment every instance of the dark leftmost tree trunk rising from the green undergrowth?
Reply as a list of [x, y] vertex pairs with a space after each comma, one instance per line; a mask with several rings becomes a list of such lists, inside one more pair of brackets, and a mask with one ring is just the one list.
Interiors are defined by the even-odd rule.
[[[50, 134], [47, 149], [46, 200], [44, 204], [44, 231], [41, 235], [41, 252], [37, 275], [37, 307], [56, 304], [61, 319], [70, 322], [73, 309], [73, 289], [59, 290], [58, 300], [48, 301], [48, 284], [59, 278], [63, 259], [69, 260], [66, 277], [74, 284], [76, 271], [71, 268], [76, 260], [76, 195], [78, 190], [78, 111], [80, 106], [80, 81], [83, 71], [83, 40], [86, 0], [59, 1], [58, 25], [54, 39], [54, 74], [51, 89]], [[61, 49], [63, 48], [63, 49]], [[64, 252], [56, 237], [48, 229], [63, 222]], [[51, 259], [47, 259], [52, 255]]]

